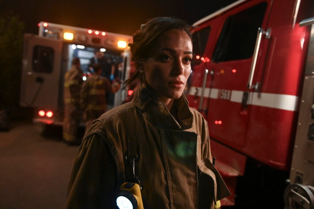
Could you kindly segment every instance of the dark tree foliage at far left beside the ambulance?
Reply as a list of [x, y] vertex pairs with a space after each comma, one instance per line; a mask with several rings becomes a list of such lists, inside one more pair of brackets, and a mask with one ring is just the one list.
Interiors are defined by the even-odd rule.
[[24, 22], [12, 13], [0, 15], [0, 109], [19, 108]]

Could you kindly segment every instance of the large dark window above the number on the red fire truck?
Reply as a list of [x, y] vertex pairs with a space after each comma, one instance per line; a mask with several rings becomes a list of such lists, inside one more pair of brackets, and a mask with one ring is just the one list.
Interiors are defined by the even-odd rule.
[[263, 2], [226, 19], [212, 57], [214, 62], [253, 55], [257, 29], [262, 25], [266, 7], [267, 3]]

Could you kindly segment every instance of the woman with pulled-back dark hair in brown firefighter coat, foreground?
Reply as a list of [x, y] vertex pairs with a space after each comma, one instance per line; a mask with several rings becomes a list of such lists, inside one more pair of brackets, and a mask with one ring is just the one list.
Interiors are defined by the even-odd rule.
[[124, 85], [140, 85], [132, 102], [89, 126], [65, 208], [116, 208], [128, 181], [141, 185], [146, 209], [214, 208], [230, 192], [211, 163], [207, 122], [183, 95], [192, 60], [187, 24], [151, 19], [129, 46], [136, 73]]

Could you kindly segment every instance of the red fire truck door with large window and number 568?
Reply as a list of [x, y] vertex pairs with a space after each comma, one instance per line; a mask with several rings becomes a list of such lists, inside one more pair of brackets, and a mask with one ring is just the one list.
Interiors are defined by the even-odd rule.
[[[271, 1], [249, 1], [217, 17], [222, 19], [219, 20], [220, 31], [209, 40], [212, 51], [204, 56], [208, 57], [208, 61], [202, 63], [207, 80], [199, 79], [205, 91], [199, 94], [201, 108], [198, 109], [206, 107], [203, 114], [208, 121], [210, 136], [230, 146], [245, 145], [249, 96], [258, 88], [252, 84], [248, 88], [248, 80], [254, 54], [258, 53], [254, 51], [257, 31], [267, 29], [270, 7]], [[259, 45], [262, 46], [264, 40], [265, 35]]]

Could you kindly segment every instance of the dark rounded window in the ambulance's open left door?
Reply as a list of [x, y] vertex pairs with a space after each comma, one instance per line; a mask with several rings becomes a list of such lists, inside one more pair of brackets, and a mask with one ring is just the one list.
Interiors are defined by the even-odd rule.
[[33, 50], [33, 70], [38, 73], [51, 73], [54, 51], [50, 47], [36, 45]]

